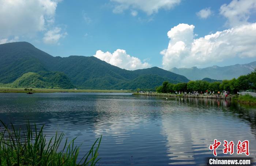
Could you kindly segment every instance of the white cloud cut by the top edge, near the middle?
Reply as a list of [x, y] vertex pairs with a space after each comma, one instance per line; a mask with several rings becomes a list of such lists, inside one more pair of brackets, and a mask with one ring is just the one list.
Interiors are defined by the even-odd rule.
[[148, 15], [157, 13], [159, 9], [171, 9], [175, 5], [179, 4], [181, 0], [111, 0], [116, 2], [114, 7], [114, 13], [122, 13], [128, 8], [140, 9], [146, 12]]

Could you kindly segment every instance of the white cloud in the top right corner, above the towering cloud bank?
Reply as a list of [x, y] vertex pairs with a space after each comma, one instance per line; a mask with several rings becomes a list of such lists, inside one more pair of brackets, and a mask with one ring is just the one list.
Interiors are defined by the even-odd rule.
[[229, 27], [247, 23], [249, 16], [256, 10], [256, 0], [233, 0], [228, 5], [223, 4], [220, 14], [227, 18]]

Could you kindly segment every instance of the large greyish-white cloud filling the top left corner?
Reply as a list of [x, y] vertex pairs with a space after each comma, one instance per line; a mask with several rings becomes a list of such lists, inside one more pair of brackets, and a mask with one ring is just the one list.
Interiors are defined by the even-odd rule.
[[0, 0], [0, 36], [31, 35], [54, 22], [57, 0]]

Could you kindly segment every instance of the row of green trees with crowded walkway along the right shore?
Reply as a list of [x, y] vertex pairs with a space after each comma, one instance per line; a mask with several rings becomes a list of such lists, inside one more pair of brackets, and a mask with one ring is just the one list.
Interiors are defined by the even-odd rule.
[[156, 87], [156, 92], [144, 92], [138, 88], [133, 95], [169, 96], [188, 98], [236, 99], [241, 103], [256, 105], [256, 98], [250, 95], [239, 96], [241, 90], [256, 89], [256, 69], [237, 79], [222, 80], [222, 82], [207, 82], [204, 80], [189, 81], [188, 83], [163, 82]]

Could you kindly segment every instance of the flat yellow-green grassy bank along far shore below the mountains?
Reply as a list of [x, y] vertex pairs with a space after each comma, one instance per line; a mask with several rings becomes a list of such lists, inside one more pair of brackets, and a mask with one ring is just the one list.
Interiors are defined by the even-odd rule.
[[[27, 93], [29, 91], [25, 88], [8, 88], [0, 87], [0, 93]], [[46, 88], [33, 88], [33, 93], [54, 93], [54, 92], [105, 92], [105, 93], [126, 93], [132, 92], [128, 90], [90, 90], [90, 89], [46, 89]]]

